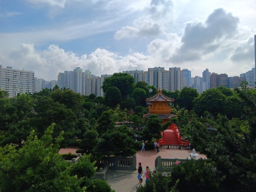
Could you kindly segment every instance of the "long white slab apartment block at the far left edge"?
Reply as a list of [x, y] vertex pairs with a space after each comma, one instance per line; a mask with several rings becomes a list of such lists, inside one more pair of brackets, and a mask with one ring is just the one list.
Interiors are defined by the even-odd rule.
[[35, 72], [3, 68], [0, 65], [0, 89], [7, 91], [9, 97], [14, 97], [18, 93], [35, 92]]

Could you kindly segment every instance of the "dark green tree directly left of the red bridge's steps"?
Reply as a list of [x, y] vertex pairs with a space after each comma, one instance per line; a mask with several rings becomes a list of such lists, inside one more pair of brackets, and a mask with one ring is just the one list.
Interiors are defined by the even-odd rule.
[[144, 137], [149, 141], [154, 138], [161, 138], [163, 120], [158, 118], [158, 115], [152, 114], [148, 117], [146, 126], [143, 128]]

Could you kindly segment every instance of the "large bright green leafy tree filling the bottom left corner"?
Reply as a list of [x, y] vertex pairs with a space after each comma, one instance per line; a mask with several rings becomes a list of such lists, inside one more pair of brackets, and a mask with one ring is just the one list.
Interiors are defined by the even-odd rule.
[[84, 191], [81, 179], [69, 174], [58, 154], [63, 132], [52, 141], [54, 124], [41, 139], [32, 131], [23, 147], [7, 146], [0, 161], [1, 191]]

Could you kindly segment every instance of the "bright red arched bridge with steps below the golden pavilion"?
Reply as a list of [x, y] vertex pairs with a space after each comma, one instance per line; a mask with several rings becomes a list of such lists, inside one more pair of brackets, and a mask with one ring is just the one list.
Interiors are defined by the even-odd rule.
[[188, 146], [189, 141], [182, 139], [180, 131], [178, 130], [177, 125], [172, 124], [161, 133], [162, 138], [158, 139], [160, 145], [186, 145]]

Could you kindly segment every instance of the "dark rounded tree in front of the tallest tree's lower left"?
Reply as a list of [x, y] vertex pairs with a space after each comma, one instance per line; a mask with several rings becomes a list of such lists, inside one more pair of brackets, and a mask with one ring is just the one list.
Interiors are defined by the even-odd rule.
[[122, 100], [122, 95], [117, 87], [109, 87], [106, 90], [105, 102], [110, 107], [115, 107]]

